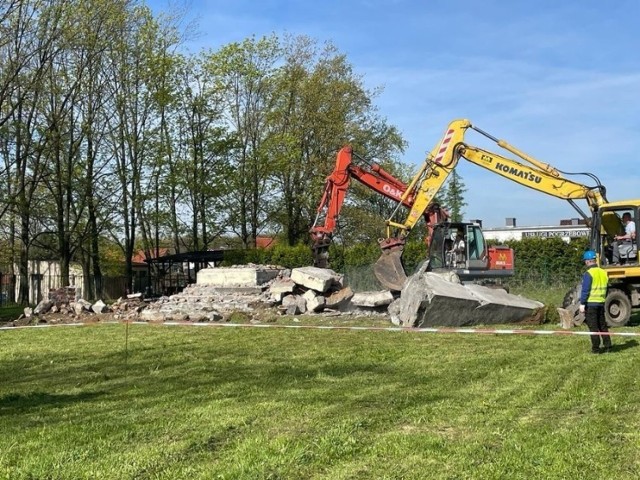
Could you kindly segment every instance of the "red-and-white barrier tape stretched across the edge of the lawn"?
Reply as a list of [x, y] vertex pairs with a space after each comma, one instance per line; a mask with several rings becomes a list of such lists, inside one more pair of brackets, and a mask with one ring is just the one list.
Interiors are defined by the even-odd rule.
[[239, 328], [295, 328], [312, 330], [355, 330], [378, 332], [408, 333], [475, 333], [481, 335], [609, 335], [617, 337], [640, 337], [640, 332], [589, 332], [573, 330], [523, 330], [523, 329], [488, 329], [488, 328], [408, 328], [408, 327], [337, 327], [329, 325], [265, 325], [253, 323], [193, 323], [193, 322], [99, 322], [99, 323], [58, 323], [44, 325], [24, 325], [19, 327], [0, 327], [0, 330], [18, 330], [25, 328], [82, 327], [100, 324], [155, 325], [168, 327], [239, 327]]

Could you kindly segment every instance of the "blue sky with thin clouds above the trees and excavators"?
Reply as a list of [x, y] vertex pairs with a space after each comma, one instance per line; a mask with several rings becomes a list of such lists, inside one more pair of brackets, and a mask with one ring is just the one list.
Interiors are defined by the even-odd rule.
[[[420, 165], [450, 121], [466, 118], [563, 172], [590, 172], [609, 201], [640, 198], [640, 2], [619, 0], [147, 0], [186, 7], [186, 48], [293, 34], [330, 41]], [[470, 132], [469, 145], [506, 154]], [[558, 225], [565, 201], [461, 160], [464, 218], [485, 227]], [[567, 176], [592, 186], [585, 176]], [[588, 212], [586, 203], [581, 207]]]

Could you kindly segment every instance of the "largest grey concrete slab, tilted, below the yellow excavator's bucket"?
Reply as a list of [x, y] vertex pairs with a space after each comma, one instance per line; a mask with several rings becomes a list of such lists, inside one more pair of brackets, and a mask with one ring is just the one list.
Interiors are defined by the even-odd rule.
[[403, 327], [462, 327], [537, 321], [544, 305], [501, 288], [461, 284], [457, 276], [417, 272], [389, 305], [391, 322]]

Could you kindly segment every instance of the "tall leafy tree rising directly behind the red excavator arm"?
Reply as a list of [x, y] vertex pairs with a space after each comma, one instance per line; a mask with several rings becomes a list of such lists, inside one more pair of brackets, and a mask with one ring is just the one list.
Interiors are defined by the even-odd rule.
[[269, 158], [280, 198], [273, 220], [287, 241], [306, 241], [324, 179], [346, 143], [365, 154], [390, 157], [402, 148], [395, 128], [373, 107], [378, 92], [367, 90], [345, 55], [330, 43], [288, 37], [278, 71], [276, 103], [269, 116]]

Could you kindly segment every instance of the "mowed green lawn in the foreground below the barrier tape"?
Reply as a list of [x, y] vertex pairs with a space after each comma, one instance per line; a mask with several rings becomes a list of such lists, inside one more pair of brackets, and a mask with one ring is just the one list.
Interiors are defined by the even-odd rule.
[[640, 346], [614, 342], [0, 331], [0, 478], [640, 478]]

